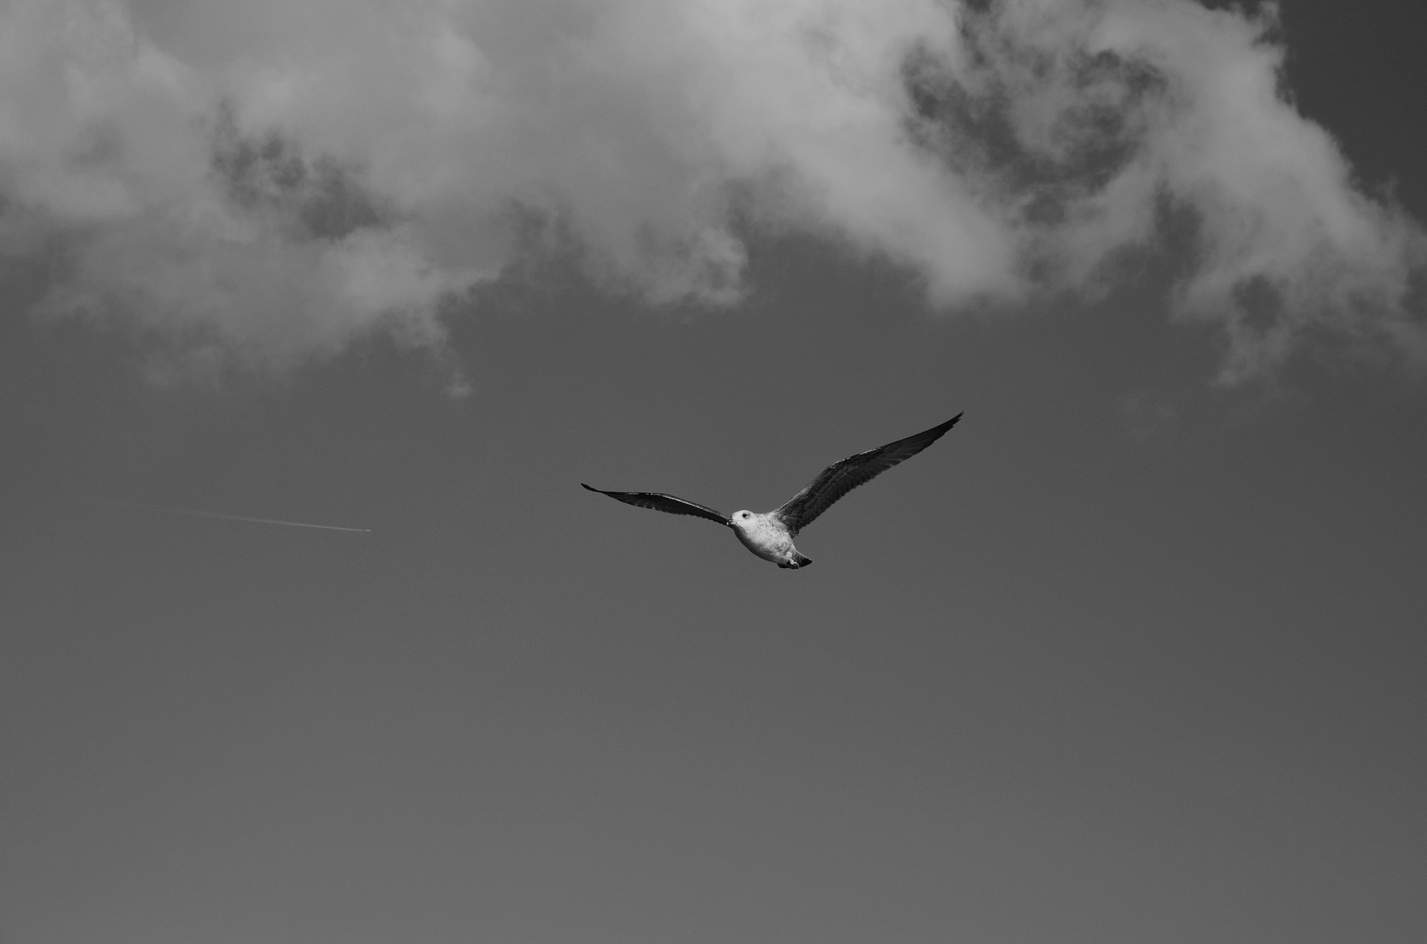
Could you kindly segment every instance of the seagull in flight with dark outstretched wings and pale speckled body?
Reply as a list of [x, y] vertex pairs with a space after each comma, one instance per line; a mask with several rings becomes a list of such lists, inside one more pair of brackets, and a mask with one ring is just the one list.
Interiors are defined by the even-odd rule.
[[833, 462], [818, 476], [805, 485], [801, 492], [783, 502], [782, 508], [771, 512], [733, 512], [729, 518], [723, 512], [714, 511], [708, 505], [689, 502], [662, 492], [606, 492], [594, 486], [581, 485], [591, 492], [599, 492], [609, 498], [619, 499], [626, 505], [638, 508], [652, 508], [656, 512], [671, 515], [692, 515], [706, 518], [733, 529], [743, 546], [763, 560], [772, 560], [779, 568], [796, 570], [812, 563], [811, 558], [798, 553], [793, 548], [793, 538], [798, 532], [813, 522], [818, 515], [828, 511], [828, 506], [839, 498], [858, 488], [863, 482], [870, 482], [875, 476], [886, 472], [902, 459], [910, 459], [922, 449], [942, 438], [948, 429], [956, 425], [963, 414], [956, 414], [945, 424], [932, 426], [915, 436], [889, 442], [868, 452], [848, 456], [842, 462]]

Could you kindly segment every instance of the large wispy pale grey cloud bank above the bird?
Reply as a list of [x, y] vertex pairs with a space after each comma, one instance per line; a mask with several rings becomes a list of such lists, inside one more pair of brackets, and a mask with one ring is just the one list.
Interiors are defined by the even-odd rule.
[[1273, 9], [1194, 0], [0, 1], [0, 265], [49, 312], [283, 368], [452, 302], [532, 221], [651, 302], [809, 232], [933, 305], [1183, 247], [1223, 379], [1420, 349], [1423, 230], [1284, 97]]

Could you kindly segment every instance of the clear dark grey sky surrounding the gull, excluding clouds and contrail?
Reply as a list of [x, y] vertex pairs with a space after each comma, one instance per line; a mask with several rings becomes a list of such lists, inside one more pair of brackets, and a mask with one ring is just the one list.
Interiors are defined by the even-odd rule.
[[[1280, 13], [1299, 111], [1427, 220], [1424, 14]], [[1216, 382], [1173, 244], [953, 305], [746, 250], [723, 307], [555, 250], [437, 358], [164, 382], [4, 260], [0, 941], [1420, 941], [1421, 366]], [[960, 411], [798, 572], [579, 488], [768, 511]]]

